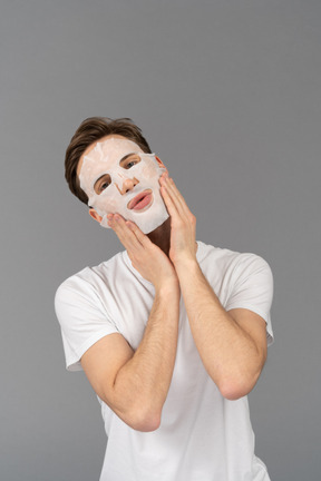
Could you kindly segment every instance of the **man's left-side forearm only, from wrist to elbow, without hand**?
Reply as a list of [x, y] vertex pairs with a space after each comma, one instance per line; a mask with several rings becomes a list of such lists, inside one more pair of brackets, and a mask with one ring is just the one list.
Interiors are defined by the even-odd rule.
[[158, 288], [143, 340], [133, 357], [118, 371], [114, 383], [116, 404], [136, 429], [153, 430], [171, 385], [177, 346], [179, 287]]

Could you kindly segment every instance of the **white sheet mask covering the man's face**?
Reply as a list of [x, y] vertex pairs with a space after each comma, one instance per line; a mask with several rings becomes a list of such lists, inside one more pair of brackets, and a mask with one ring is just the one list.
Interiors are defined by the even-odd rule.
[[[133, 157], [124, 159], [129, 154]], [[145, 154], [132, 140], [110, 137], [84, 157], [79, 180], [88, 206], [103, 217], [103, 227], [109, 228], [107, 214], [118, 213], [149, 234], [169, 217], [158, 183], [164, 171], [155, 154]]]

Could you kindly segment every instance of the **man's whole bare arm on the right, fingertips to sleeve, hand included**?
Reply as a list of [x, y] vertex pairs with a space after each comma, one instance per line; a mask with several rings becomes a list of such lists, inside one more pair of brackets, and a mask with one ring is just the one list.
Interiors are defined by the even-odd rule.
[[235, 400], [256, 383], [266, 359], [265, 321], [247, 310], [226, 312], [196, 259], [196, 219], [172, 179], [162, 177], [172, 218], [169, 257], [175, 266], [201, 359], [223, 396]]

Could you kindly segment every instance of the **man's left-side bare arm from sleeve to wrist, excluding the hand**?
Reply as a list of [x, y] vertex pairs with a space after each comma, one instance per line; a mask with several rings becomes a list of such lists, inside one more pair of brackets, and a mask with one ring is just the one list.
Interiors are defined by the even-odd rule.
[[136, 352], [120, 334], [94, 344], [81, 365], [94, 390], [138, 431], [154, 431], [169, 389], [177, 344], [178, 301], [175, 288], [160, 289]]

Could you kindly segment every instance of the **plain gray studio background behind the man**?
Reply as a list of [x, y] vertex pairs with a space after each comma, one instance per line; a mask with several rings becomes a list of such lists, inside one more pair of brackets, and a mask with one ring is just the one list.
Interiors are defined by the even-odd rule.
[[99, 477], [99, 405], [54, 312], [66, 277], [121, 247], [64, 179], [95, 115], [143, 128], [197, 238], [270, 263], [256, 452], [272, 481], [319, 480], [320, 1], [2, 0], [0, 46], [1, 480]]

